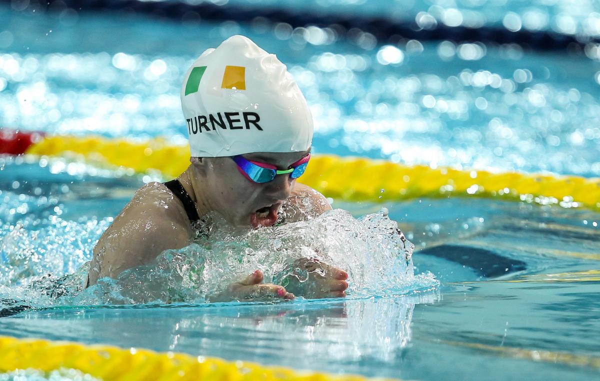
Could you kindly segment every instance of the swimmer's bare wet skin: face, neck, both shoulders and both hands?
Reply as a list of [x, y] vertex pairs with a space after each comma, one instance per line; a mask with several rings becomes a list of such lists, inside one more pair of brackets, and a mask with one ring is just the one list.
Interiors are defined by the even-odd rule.
[[[256, 152], [244, 157], [287, 169], [307, 153]], [[190, 161], [191, 165], [178, 179], [196, 204], [199, 216], [217, 212], [232, 226], [252, 229], [253, 214], [256, 217], [256, 211], [265, 207], [275, 214], [283, 208], [286, 222], [308, 220], [331, 210], [322, 194], [289, 175], [278, 175], [271, 182], [257, 184], [245, 178], [229, 157], [193, 157]], [[98, 278], [116, 278], [126, 269], [152, 262], [164, 250], [186, 247], [193, 236], [190, 220], [179, 199], [163, 184], [151, 182], [136, 192], [94, 247], [89, 285], [95, 284]], [[310, 282], [305, 282], [305, 289], [294, 287], [298, 295], [306, 298], [346, 296], [346, 272], [321, 262], [316, 271], [315, 263], [308, 259], [302, 265], [308, 270]], [[256, 270], [220, 294], [209, 295], [208, 299], [295, 298], [280, 285], [262, 282], [263, 274]]]

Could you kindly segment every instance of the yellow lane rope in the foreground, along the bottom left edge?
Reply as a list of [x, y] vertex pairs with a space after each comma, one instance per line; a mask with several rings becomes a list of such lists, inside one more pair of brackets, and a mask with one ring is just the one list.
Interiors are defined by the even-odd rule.
[[0, 372], [34, 368], [50, 372], [60, 368], [82, 371], [109, 380], [203, 381], [365, 381], [366, 377], [308, 373], [252, 362], [228, 362], [184, 353], [157, 353], [145, 349], [0, 336]]

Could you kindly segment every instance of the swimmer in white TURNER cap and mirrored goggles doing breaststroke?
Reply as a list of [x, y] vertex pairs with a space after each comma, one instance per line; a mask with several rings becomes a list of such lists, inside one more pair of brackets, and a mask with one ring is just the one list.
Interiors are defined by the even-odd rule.
[[[296, 179], [310, 160], [313, 119], [292, 76], [275, 55], [235, 35], [196, 59], [181, 88], [190, 142], [190, 166], [177, 179], [137, 191], [94, 247], [88, 285], [145, 265], [194, 239], [192, 223], [217, 212], [233, 226], [271, 226], [331, 209], [322, 194]], [[342, 269], [304, 260], [311, 271], [306, 298], [346, 296]], [[319, 271], [314, 271], [319, 269]], [[310, 284], [310, 286], [308, 286]], [[254, 271], [210, 301], [293, 299], [264, 284]]]

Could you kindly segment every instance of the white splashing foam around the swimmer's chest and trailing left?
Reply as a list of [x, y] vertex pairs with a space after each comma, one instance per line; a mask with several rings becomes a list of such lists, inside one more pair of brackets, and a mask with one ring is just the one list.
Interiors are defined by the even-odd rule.
[[439, 286], [432, 274], [414, 274], [414, 246], [385, 209], [358, 220], [336, 209], [310, 221], [250, 232], [214, 216], [209, 236], [85, 290], [87, 261], [109, 221], [79, 223], [51, 216], [38, 224], [25, 229], [32, 222], [19, 220], [0, 242], [0, 308], [205, 302], [256, 269], [263, 272], [264, 283], [288, 284], [291, 279], [296, 288], [311, 287], [313, 275], [297, 262], [303, 258], [347, 271], [350, 297]]

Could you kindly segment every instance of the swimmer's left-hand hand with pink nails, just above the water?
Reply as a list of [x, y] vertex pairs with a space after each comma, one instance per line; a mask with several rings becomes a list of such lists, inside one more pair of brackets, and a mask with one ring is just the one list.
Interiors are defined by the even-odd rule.
[[263, 284], [262, 281], [262, 271], [256, 270], [244, 279], [230, 284], [227, 290], [209, 296], [208, 301], [272, 301], [278, 299], [293, 300], [296, 298], [293, 293], [287, 292], [284, 287], [272, 283]]

